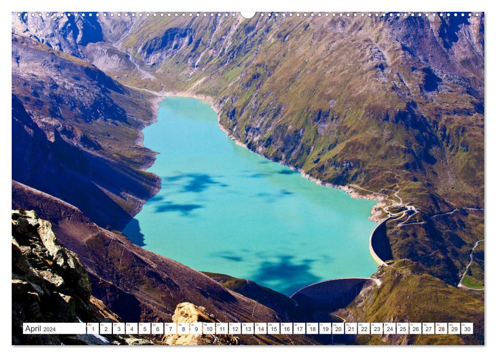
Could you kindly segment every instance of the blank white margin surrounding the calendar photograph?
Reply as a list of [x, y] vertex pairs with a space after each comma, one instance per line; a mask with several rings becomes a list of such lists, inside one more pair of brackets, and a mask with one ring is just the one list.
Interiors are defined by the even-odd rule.
[[[277, 1], [277, 2], [276, 2]], [[289, 2], [289, 1], [281, 1], [281, 0], [276, 0], [273, 2], [267, 2], [267, 0], [250, 0], [250, 1], [243, 1], [243, 2], [234, 2], [234, 1], [228, 1], [228, 0], [217, 0], [216, 3], [214, 4], [213, 1], [210, 2], [205, 2], [201, 0], [188, 0], [188, 1], [183, 1], [183, 2], [167, 2], [167, 3], [157, 3], [156, 1], [153, 0], [140, 0], [139, 2], [136, 1], [129, 1], [129, 0], [122, 0], [117, 2], [116, 0], [111, 0], [106, 3], [102, 3], [101, 0], [84, 0], [81, 2], [67, 2], [66, 0], [52, 0], [50, 2], [41, 2], [41, 1], [34, 1], [34, 0], [25, 0], [22, 1], [21, 3], [19, 2], [8, 2], [7, 6], [8, 9], [4, 9], [4, 6], [2, 5], [2, 12], [1, 18], [0, 18], [0, 26], [2, 26], [2, 31], [0, 31], [0, 39], [2, 40], [2, 48], [10, 48], [10, 35], [6, 36], [6, 34], [9, 34], [11, 32], [11, 12], [13, 11], [23, 11], [23, 10], [39, 10], [39, 11], [102, 11], [102, 10], [128, 10], [128, 9], [134, 9], [136, 7], [139, 8], [146, 8], [146, 9], [156, 9], [156, 10], [162, 10], [167, 8], [168, 10], [171, 11], [217, 11], [217, 10], [223, 10], [223, 11], [252, 11], [252, 10], [257, 10], [257, 11], [313, 11], [314, 9], [316, 11], [369, 11], [369, 10], [374, 10], [374, 9], [384, 9], [384, 10], [393, 10], [393, 11], [454, 11], [454, 10], [460, 10], [460, 11], [481, 11], [481, 12], [486, 12], [488, 10], [493, 10], [493, 7], [489, 9], [489, 5], [486, 4], [486, 2], [482, 0], [466, 0], [466, 1], [460, 1], [460, 0], [453, 0], [453, 1], [442, 1], [442, 2], [433, 2], [432, 0], [415, 0], [415, 1], [409, 1], [405, 3], [398, 3], [397, 1], [393, 0], [385, 0], [385, 1], [377, 1], [377, 2], [370, 2], [370, 1], [365, 1], [365, 0], [358, 0], [355, 2], [349, 2], [349, 1], [341, 1], [341, 2], [329, 2], [323, 1], [323, 0], [301, 0], [299, 3], [296, 2]], [[105, 4], [105, 5], [102, 5]], [[22, 9], [19, 9], [19, 7], [22, 7]], [[28, 11], [29, 11], [28, 10]], [[489, 18], [490, 24], [487, 25], [486, 22], [486, 28], [485, 28], [485, 44], [486, 44], [486, 52], [485, 52], [485, 58], [486, 58], [486, 63], [488, 63], [487, 58], [491, 58], [494, 60], [496, 56], [494, 56], [494, 51], [496, 50], [495, 48], [495, 43], [492, 40], [493, 38], [496, 38], [496, 33], [493, 30], [496, 28], [496, 18], [494, 16], [496, 12], [491, 11], [491, 16]], [[7, 67], [10, 68], [11, 66], [11, 59], [8, 58], [7, 53], [9, 51], [5, 50], [5, 54], [3, 55], [2, 58], [2, 68], [4, 71], [6, 71]], [[494, 66], [492, 66], [494, 67]], [[494, 91], [494, 84], [496, 84], [494, 81], [496, 78], [494, 78], [494, 69], [488, 69], [488, 67], [485, 67], [485, 74], [486, 74], [486, 81], [484, 83], [484, 86], [486, 88], [486, 100], [485, 100], [485, 118], [492, 117], [491, 113], [494, 112], [494, 110], [491, 109], [491, 103], [488, 100], [490, 93], [492, 96], [496, 94], [496, 91]], [[6, 73], [3, 73], [6, 74]], [[5, 76], [4, 76], [5, 77]], [[491, 80], [489, 81], [489, 77], [491, 77]], [[4, 81], [2, 88], [2, 95], [0, 95], [0, 100], [3, 102], [3, 108], [11, 108], [11, 101], [10, 101], [10, 92], [11, 92], [11, 87], [9, 81]], [[4, 112], [7, 113], [7, 109], [4, 109]], [[6, 120], [7, 121], [7, 120]], [[3, 131], [4, 137], [2, 138], [3, 140], [0, 140], [0, 148], [2, 149], [2, 152], [11, 152], [11, 139], [9, 139], [11, 135], [11, 130], [10, 130], [10, 124], [7, 124], [8, 127], [6, 130]], [[496, 130], [494, 124], [491, 124], [490, 121], [485, 120], [485, 127], [486, 127], [486, 132], [485, 132], [485, 138], [495, 138], [496, 137]], [[486, 141], [486, 147], [485, 147], [485, 153], [487, 152], [496, 152], [496, 140], [487, 140]], [[487, 158], [488, 155], [485, 155], [485, 158]], [[4, 168], [10, 168], [11, 166], [11, 159], [8, 158], [8, 155], [4, 155], [2, 157], [2, 164]], [[486, 159], [487, 160], [487, 159]], [[486, 162], [486, 179], [485, 183], [489, 182], [494, 182], [496, 181], [496, 174], [495, 174], [495, 167], [494, 164], [488, 165], [489, 161]], [[3, 174], [1, 175], [2, 177], [2, 183], [0, 187], [2, 187], [5, 192], [2, 192], [2, 197], [3, 199], [3, 204], [4, 204], [4, 215], [7, 216], [10, 214], [10, 203], [7, 203], [6, 197], [10, 196], [10, 172], [9, 170], [4, 170]], [[491, 181], [489, 181], [489, 176], [491, 177]], [[7, 191], [8, 190], [8, 191]], [[492, 204], [491, 202], [496, 202], [496, 189], [494, 188], [494, 185], [487, 185], [486, 184], [486, 217], [490, 217], [494, 214], [496, 214], [495, 210], [492, 209]], [[8, 205], [8, 208], [7, 208]], [[8, 210], [8, 211], [7, 211]], [[489, 211], [488, 211], [489, 210]], [[490, 220], [486, 220], [485, 222], [485, 228], [486, 228], [486, 235], [496, 235], [496, 227]], [[7, 224], [3, 224], [3, 236], [7, 236], [9, 232], [7, 231]], [[7, 244], [7, 240], [5, 240], [4, 244]], [[488, 246], [490, 247], [491, 244], [487, 244], [485, 246], [486, 249], [486, 256], [488, 253]], [[489, 248], [491, 249], [491, 248]], [[492, 251], [492, 250], [491, 250]], [[10, 261], [11, 261], [11, 252], [10, 249], [0, 249], [1, 254], [5, 254], [5, 257], [2, 257], [3, 259], [0, 260], [0, 264], [3, 264], [2, 266], [2, 271], [0, 273], [3, 274], [3, 279], [2, 282], [4, 282], [6, 291], [10, 291], [11, 287], [7, 287], [7, 282], [10, 284]], [[493, 253], [493, 251], [492, 251]], [[491, 254], [492, 254], [491, 253]], [[494, 254], [492, 254], [494, 256]], [[486, 279], [489, 281], [487, 276], [494, 276], [494, 265], [490, 264], [486, 266]], [[487, 275], [489, 274], [489, 275]], [[8, 290], [7, 290], [8, 289]], [[491, 293], [487, 293], [490, 291]], [[486, 293], [486, 299], [488, 296], [493, 296], [492, 293], [493, 289], [492, 286], [486, 286], [485, 293]], [[10, 294], [9, 296], [0, 296], [0, 301], [5, 302], [1, 304], [4, 309], [10, 309], [10, 303], [9, 301], [4, 301], [4, 300], [9, 300], [11, 299]], [[487, 300], [486, 300], [487, 301]], [[485, 304], [485, 321], [488, 321], [489, 316], [490, 318], [490, 323], [486, 322], [485, 326], [485, 336], [486, 336], [486, 346], [491, 345], [494, 346], [496, 343], [491, 341], [489, 339], [489, 336], [494, 336], [494, 328], [493, 328], [493, 323], [496, 322], [496, 318], [494, 318], [494, 308], [492, 303], [487, 303]], [[7, 315], [7, 314], [4, 314]], [[9, 312], [10, 315], [10, 312]], [[5, 320], [9, 320], [9, 317], [4, 316]], [[70, 354], [72, 354], [72, 357], [79, 357], [79, 356], [85, 356], [88, 353], [88, 350], [85, 349], [85, 347], [81, 346], [64, 346], [63, 351], [60, 350], [60, 347], [58, 346], [27, 346], [27, 348], [22, 348], [21, 346], [12, 346], [11, 345], [11, 325], [10, 323], [4, 323], [0, 325], [0, 331], [2, 331], [3, 339], [2, 342], [4, 345], [7, 345], [8, 348], [13, 348], [14, 350], [11, 350], [12, 353], [15, 353], [16, 357], [19, 356], [29, 356], [33, 357], [34, 353], [38, 353], [38, 349], [41, 351], [43, 350], [43, 354], [53, 354], [55, 353], [67, 353], [69, 351]], [[156, 346], [152, 348], [147, 348], [147, 353], [150, 354], [158, 354], [158, 353], [163, 353], [163, 350], [160, 349], [163, 346]], [[466, 357], [470, 351], [467, 349], [467, 347], [464, 348], [457, 348], [458, 346], [444, 346], [444, 347], [433, 347], [433, 346], [421, 346], [420, 349], [418, 348], [408, 348], [408, 347], [401, 347], [400, 349], [391, 349], [392, 347], [389, 346], [374, 346], [374, 352], [375, 353], [398, 353], [398, 351], [401, 351], [402, 357], [409, 357], [409, 356], [414, 356], [414, 357], [419, 357], [419, 353], [425, 353], [427, 350], [430, 350], [434, 353], [442, 353], [440, 348], [447, 348], [448, 353], [450, 353], [450, 357], [460, 355]], [[120, 348], [119, 349], [119, 354], [120, 356], [135, 356], [136, 354], [136, 349], [139, 347], [133, 347], [133, 348]], [[197, 346], [193, 352], [190, 353], [201, 353], [200, 351], [206, 351], [207, 346]], [[253, 348], [237, 348], [235, 353], [237, 354], [237, 357], [244, 357], [244, 356], [250, 356], [252, 357], [252, 354], [254, 353]], [[262, 348], [265, 352], [270, 352], [271, 350], [269, 347], [256, 347], [257, 350], [255, 353], [259, 353], [260, 349]], [[299, 347], [292, 347], [292, 348], [297, 348], [298, 353], [305, 353], [305, 352], [310, 352], [313, 354], [312, 357], [315, 355], [328, 355], [329, 349], [328, 348], [314, 348], [313, 346], [299, 346]], [[332, 346], [332, 348], [353, 348], [349, 346]], [[365, 348], [365, 346], [358, 346], [358, 348]], [[435, 349], [434, 349], [435, 348]], [[470, 348], [470, 347], [468, 347]], [[485, 355], [488, 353], [488, 348], [478, 348], [476, 353], [477, 357], [480, 357], [482, 355]], [[97, 353], [101, 350], [101, 347], [99, 346], [92, 346], [90, 349], [90, 353]], [[108, 349], [106, 349], [108, 353]], [[178, 349], [175, 349], [174, 351], [178, 351]], [[210, 350], [211, 351], [211, 350]], [[272, 349], [272, 351], [274, 351]], [[229, 347], [222, 347], [222, 348], [216, 348], [215, 352], [217, 356], [229, 356], [232, 357], [232, 352], [233, 349]], [[138, 351], [139, 353], [139, 351]], [[279, 353], [278, 351], [276, 353]], [[336, 353], [333, 351], [333, 353]], [[342, 353], [342, 352], [340, 352]]]

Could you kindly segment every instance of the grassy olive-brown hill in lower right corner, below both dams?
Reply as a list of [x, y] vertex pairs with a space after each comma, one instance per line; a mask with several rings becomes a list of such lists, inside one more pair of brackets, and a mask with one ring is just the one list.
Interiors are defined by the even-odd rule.
[[473, 322], [474, 335], [363, 335], [360, 344], [483, 344], [484, 303], [427, 274], [409, 260], [391, 261], [374, 277], [382, 285], [363, 291], [337, 315], [353, 322]]

